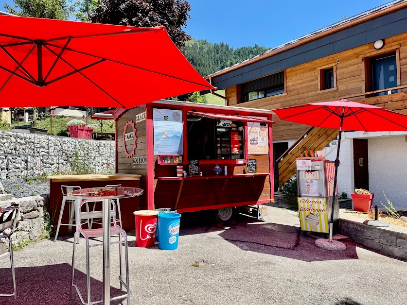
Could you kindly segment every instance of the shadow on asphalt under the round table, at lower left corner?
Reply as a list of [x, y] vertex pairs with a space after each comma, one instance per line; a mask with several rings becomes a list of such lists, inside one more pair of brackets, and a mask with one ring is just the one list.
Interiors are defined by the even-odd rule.
[[[3, 257], [5, 258], [5, 257]], [[41, 304], [41, 305], [67, 305], [81, 304], [75, 290], [72, 292], [72, 302], [69, 300], [69, 288], [71, 283], [71, 265], [57, 264], [39, 267], [16, 268], [17, 304]], [[111, 279], [114, 280], [113, 278]], [[0, 293], [12, 293], [12, 281], [10, 268], [0, 269]], [[75, 271], [75, 284], [78, 286], [84, 298], [86, 294], [86, 274]], [[102, 299], [102, 282], [90, 278], [92, 289], [91, 301]], [[117, 288], [110, 288], [111, 297], [124, 294]], [[0, 298], [0, 305], [13, 304], [13, 297]], [[114, 301], [110, 304], [122, 304]]]

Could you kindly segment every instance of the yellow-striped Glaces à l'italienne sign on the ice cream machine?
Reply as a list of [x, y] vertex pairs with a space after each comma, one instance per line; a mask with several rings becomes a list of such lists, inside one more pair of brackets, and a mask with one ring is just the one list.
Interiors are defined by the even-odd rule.
[[302, 231], [329, 233], [325, 198], [298, 197]]

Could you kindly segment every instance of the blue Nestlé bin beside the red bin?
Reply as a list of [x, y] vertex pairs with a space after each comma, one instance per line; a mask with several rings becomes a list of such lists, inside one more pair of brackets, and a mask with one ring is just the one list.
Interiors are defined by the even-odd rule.
[[158, 215], [159, 223], [159, 249], [175, 250], [178, 247], [179, 213], [160, 213]]

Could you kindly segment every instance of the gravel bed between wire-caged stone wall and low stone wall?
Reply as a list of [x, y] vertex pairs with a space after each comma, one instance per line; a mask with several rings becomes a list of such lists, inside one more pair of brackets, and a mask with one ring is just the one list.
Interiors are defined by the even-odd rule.
[[0, 180], [0, 182], [7, 189], [7, 193], [12, 194], [16, 198], [50, 193], [50, 181], [48, 179], [30, 180], [30, 178], [16, 178], [4, 179]]

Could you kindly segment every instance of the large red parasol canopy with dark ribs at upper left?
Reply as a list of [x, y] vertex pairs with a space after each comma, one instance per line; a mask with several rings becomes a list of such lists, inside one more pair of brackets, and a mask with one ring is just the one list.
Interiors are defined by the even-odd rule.
[[0, 16], [0, 106], [129, 108], [211, 88], [162, 26]]

